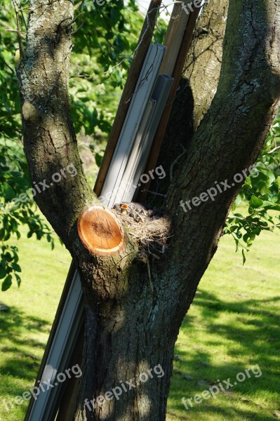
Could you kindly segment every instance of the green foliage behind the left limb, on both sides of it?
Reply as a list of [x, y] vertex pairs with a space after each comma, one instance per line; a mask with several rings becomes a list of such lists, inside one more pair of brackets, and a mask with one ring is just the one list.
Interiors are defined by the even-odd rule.
[[[23, 44], [28, 3], [28, 0], [20, 1]], [[91, 136], [88, 146], [100, 166], [104, 149], [95, 145], [105, 140], [111, 130], [143, 17], [135, 13], [138, 8], [133, 0], [126, 6], [124, 1], [118, 1], [96, 9], [88, 8], [85, 3], [75, 2], [69, 93], [76, 134], [78, 138]], [[2, 290], [7, 290], [13, 279], [20, 286], [18, 249], [9, 244], [13, 236], [20, 238], [20, 226], [29, 227], [28, 237], [46, 238], [52, 247], [54, 243], [32, 195], [22, 196], [31, 182], [21, 142], [20, 98], [15, 73], [18, 34], [15, 11], [9, 0], [2, 2], [0, 22], [6, 29], [0, 33], [0, 279], [3, 279]]]

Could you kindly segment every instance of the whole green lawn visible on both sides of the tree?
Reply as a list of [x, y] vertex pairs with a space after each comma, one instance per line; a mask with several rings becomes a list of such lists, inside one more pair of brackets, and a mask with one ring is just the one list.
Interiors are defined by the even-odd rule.
[[[168, 421], [276, 420], [280, 410], [280, 232], [256, 240], [242, 266], [229, 237], [201, 280], [180, 329], [168, 399]], [[0, 420], [21, 421], [27, 403], [9, 412], [8, 401], [34, 385], [40, 359], [69, 267], [69, 253], [57, 242], [20, 239], [22, 286], [0, 293], [11, 307], [0, 312]], [[181, 399], [201, 394], [219, 379], [231, 382], [246, 368], [262, 375], [246, 378], [216, 399], [186, 410]], [[184, 376], [192, 376], [187, 380]], [[233, 380], [233, 381], [232, 381]]]

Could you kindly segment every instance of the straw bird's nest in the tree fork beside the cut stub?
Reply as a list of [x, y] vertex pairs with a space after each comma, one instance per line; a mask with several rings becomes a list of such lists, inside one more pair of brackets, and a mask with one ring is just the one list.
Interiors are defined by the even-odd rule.
[[118, 216], [137, 241], [140, 260], [146, 260], [149, 255], [159, 258], [159, 255], [166, 252], [171, 237], [171, 222], [166, 215], [146, 215], [138, 220], [126, 213], [118, 213]]

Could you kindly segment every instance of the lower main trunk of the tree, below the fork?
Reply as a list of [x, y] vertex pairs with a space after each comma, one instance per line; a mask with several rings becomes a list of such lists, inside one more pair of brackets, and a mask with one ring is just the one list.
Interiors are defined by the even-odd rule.
[[[140, 269], [143, 274], [146, 270]], [[88, 365], [87, 357], [82, 368], [93, 382], [94, 393], [82, 383], [76, 420], [165, 419], [178, 335], [178, 322], [174, 328], [169, 326], [174, 303], [168, 297], [156, 300], [141, 274], [133, 277], [128, 295], [121, 302], [98, 306], [95, 340], [90, 334], [86, 343], [86, 349], [94, 349], [92, 365]], [[86, 325], [92, 326], [94, 318], [87, 308]]]

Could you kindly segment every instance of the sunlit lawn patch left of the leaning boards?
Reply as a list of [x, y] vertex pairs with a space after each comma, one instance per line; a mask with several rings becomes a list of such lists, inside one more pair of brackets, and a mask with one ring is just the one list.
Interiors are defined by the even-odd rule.
[[[0, 420], [21, 421], [27, 403], [6, 410], [6, 403], [34, 386], [41, 357], [51, 330], [69, 263], [68, 251], [59, 241], [55, 249], [46, 241], [22, 239], [20, 250], [22, 284], [5, 293], [0, 302], [10, 307], [0, 312]], [[11, 408], [11, 406], [8, 406]]]

